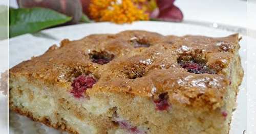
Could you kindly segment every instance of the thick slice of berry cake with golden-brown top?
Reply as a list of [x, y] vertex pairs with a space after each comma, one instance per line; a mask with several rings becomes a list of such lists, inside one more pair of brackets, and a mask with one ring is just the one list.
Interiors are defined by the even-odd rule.
[[10, 108], [71, 133], [228, 133], [238, 34], [146, 31], [61, 41], [10, 69]]

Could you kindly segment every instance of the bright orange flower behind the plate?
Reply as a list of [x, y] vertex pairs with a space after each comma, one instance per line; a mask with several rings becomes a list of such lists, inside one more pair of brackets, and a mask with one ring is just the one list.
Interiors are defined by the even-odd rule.
[[131, 23], [136, 20], [148, 20], [146, 0], [91, 0], [91, 17], [96, 21]]

